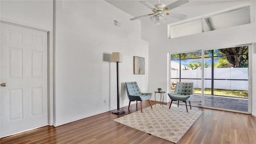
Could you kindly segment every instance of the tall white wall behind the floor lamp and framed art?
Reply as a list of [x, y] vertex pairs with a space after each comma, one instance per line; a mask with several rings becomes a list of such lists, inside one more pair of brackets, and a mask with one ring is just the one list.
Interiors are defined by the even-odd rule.
[[[128, 106], [124, 82], [148, 90], [148, 42], [140, 21], [106, 1], [56, 2], [56, 126], [116, 108], [116, 63], [120, 63], [120, 107]], [[114, 26], [114, 20], [121, 23]], [[145, 58], [146, 74], [133, 74], [133, 56]]]

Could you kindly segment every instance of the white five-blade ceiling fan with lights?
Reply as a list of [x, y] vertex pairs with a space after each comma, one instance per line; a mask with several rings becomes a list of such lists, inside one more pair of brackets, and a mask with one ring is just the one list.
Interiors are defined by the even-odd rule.
[[182, 4], [186, 4], [189, 2], [189, 0], [177, 0], [176, 2], [173, 2], [172, 4], [165, 5], [165, 4], [160, 4], [160, 0], [158, 0], [158, 4], [152, 5], [147, 1], [140, 1], [140, 3], [144, 4], [148, 8], [152, 9], [153, 13], [152, 14], [146, 14], [143, 16], [138, 16], [135, 18], [131, 18], [130, 20], [137, 20], [139, 18], [144, 18], [147, 16], [150, 16], [150, 20], [154, 22], [154, 24], [158, 25], [160, 24], [160, 19], [162, 19], [164, 22], [166, 22], [167, 16], [177, 18], [180, 20], [184, 20], [187, 16], [184, 14], [178, 14], [178, 13], [168, 13], [166, 11], [172, 10], [178, 6], [181, 6]]

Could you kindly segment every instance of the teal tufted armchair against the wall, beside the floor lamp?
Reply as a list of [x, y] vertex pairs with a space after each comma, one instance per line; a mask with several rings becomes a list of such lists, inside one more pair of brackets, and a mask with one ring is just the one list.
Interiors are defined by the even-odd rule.
[[[137, 82], [126, 82], [126, 92], [127, 92], [127, 96], [130, 100], [129, 102], [129, 106], [128, 106], [128, 109], [130, 108], [130, 104], [131, 102], [135, 101], [138, 103], [138, 101], [145, 101], [145, 100], [148, 100], [151, 108], [152, 108], [152, 104], [150, 102], [150, 99], [152, 97], [152, 93], [143, 93], [143, 92], [140, 92], [140, 88], [137, 84]], [[141, 112], [142, 112], [142, 103], [140, 102], [140, 109], [141, 109]]]

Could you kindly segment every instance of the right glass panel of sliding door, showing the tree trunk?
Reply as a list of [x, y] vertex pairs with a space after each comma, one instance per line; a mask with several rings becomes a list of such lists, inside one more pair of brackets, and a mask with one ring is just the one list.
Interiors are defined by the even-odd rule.
[[248, 46], [204, 54], [204, 106], [248, 112]]

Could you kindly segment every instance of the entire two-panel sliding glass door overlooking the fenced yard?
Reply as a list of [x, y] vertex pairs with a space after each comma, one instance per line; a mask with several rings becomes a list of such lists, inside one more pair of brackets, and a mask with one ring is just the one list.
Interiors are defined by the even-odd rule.
[[176, 82], [193, 82], [192, 106], [248, 112], [248, 46], [171, 54], [170, 57], [170, 90], [174, 91]]

